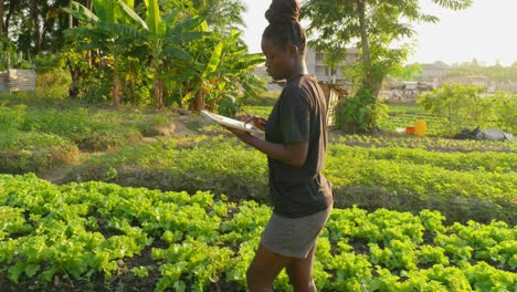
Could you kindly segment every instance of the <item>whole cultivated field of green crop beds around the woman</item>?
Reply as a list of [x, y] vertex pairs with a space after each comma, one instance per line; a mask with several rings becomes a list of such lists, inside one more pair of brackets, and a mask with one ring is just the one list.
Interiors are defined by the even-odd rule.
[[[196, 115], [0, 98], [2, 289], [244, 291], [264, 155]], [[318, 289], [515, 291], [516, 144], [443, 138], [432, 118], [397, 134], [421, 111], [392, 113], [373, 135], [329, 133]]]

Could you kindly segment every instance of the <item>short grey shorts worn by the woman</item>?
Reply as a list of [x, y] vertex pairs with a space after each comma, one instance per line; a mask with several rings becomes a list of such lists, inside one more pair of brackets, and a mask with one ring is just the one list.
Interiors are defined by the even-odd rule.
[[261, 243], [278, 254], [305, 259], [330, 216], [333, 207], [300, 218], [273, 213], [262, 232]]

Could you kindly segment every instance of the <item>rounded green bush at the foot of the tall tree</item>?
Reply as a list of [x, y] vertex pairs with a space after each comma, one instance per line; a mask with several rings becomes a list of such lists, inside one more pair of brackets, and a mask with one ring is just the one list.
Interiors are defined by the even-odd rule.
[[367, 88], [346, 98], [336, 111], [336, 127], [351, 133], [365, 133], [387, 117], [388, 107], [378, 102]]

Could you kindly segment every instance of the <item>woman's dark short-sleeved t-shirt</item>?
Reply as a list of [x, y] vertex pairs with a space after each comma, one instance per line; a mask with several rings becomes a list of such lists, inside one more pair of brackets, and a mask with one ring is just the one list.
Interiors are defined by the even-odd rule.
[[265, 128], [265, 139], [288, 144], [308, 142], [298, 168], [267, 157], [274, 212], [288, 218], [309, 216], [333, 204], [330, 182], [321, 175], [327, 149], [327, 104], [314, 75], [288, 80]]

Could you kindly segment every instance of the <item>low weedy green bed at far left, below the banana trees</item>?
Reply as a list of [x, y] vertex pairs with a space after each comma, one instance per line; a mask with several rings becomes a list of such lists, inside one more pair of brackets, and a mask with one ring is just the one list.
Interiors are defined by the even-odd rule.
[[[0, 127], [6, 129], [2, 133], [6, 134], [6, 142], [11, 140], [3, 146], [15, 145], [20, 138], [25, 140], [28, 147], [39, 150], [43, 147], [36, 143], [39, 139], [31, 145], [30, 139], [22, 137], [46, 135], [53, 139], [72, 143], [85, 152], [106, 150], [120, 147], [129, 140], [138, 142], [141, 136], [158, 135], [157, 128], [167, 126], [171, 119], [171, 114], [167, 112], [161, 114], [158, 112], [155, 115], [131, 108], [113, 112], [95, 107], [67, 106], [63, 102], [60, 102], [59, 108], [54, 108], [53, 98], [38, 106], [34, 106], [33, 100], [34, 103], [42, 102], [38, 97], [27, 100], [12, 97], [8, 100], [12, 105], [0, 106]], [[17, 134], [9, 136], [8, 129], [17, 131]]]

